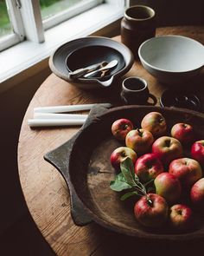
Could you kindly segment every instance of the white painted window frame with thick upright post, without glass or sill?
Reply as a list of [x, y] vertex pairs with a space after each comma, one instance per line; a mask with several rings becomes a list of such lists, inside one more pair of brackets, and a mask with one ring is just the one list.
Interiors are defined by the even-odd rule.
[[88, 0], [86, 3], [76, 4], [73, 8], [62, 11], [42, 22], [38, 0], [6, 0], [14, 33], [0, 39], [0, 51], [20, 43], [25, 38], [35, 43], [43, 43], [45, 40], [44, 30], [103, 2], [103, 0]]

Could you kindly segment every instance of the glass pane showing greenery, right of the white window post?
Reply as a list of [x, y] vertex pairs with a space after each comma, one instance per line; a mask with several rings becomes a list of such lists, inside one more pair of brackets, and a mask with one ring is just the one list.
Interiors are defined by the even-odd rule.
[[42, 20], [73, 7], [83, 0], [40, 0]]

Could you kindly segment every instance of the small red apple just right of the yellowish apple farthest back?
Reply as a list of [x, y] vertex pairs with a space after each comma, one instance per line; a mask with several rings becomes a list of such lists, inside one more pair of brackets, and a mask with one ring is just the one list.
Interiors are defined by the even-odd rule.
[[188, 123], [175, 123], [171, 128], [171, 136], [183, 144], [188, 144], [194, 141], [194, 128]]

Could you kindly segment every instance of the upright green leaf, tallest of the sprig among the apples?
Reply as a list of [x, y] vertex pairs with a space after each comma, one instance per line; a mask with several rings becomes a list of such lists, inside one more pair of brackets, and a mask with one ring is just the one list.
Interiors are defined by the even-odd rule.
[[124, 174], [124, 178], [127, 181], [131, 187], [135, 185], [134, 181], [134, 175], [135, 175], [135, 170], [133, 166], [133, 162], [131, 161], [130, 157], [125, 157], [124, 161], [120, 163], [120, 169], [122, 174]]

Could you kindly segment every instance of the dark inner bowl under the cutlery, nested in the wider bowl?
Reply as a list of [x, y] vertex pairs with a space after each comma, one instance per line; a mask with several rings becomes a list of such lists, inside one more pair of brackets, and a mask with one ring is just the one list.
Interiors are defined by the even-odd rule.
[[[110, 72], [107, 73], [108, 75], [103, 77], [103, 79], [106, 80], [119, 70], [123, 69], [125, 65], [122, 54], [112, 47], [93, 45], [76, 49], [67, 56], [66, 65], [68, 71], [74, 71], [76, 69], [88, 67], [96, 62], [111, 62], [113, 60], [117, 60], [118, 65], [111, 69]], [[98, 73], [95, 73], [95, 75], [90, 76], [90, 78], [91, 77], [100, 78]]]

